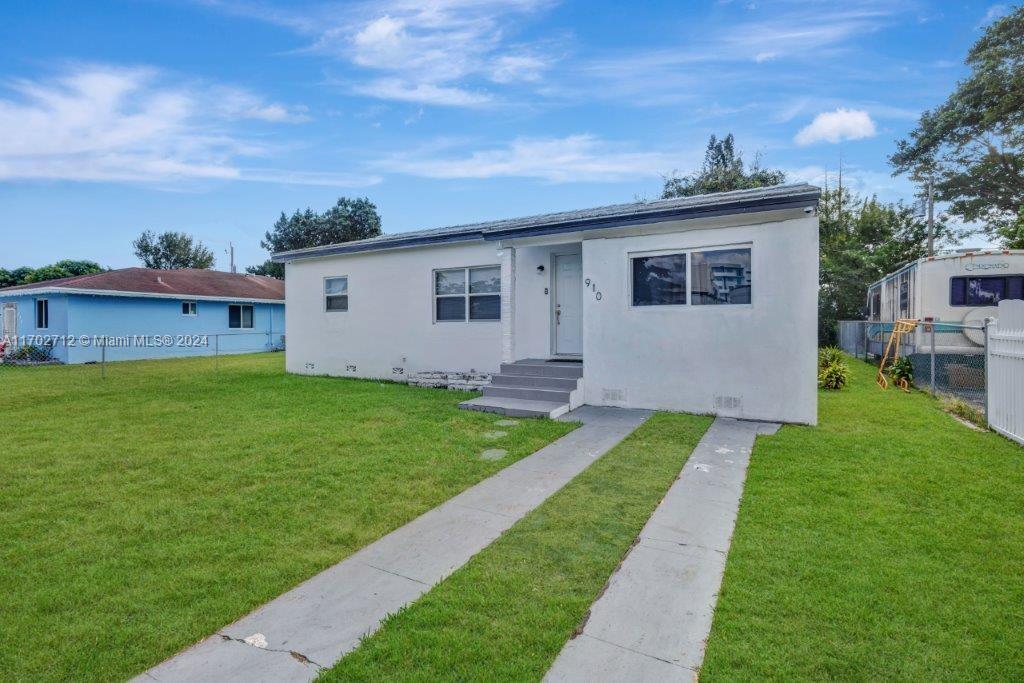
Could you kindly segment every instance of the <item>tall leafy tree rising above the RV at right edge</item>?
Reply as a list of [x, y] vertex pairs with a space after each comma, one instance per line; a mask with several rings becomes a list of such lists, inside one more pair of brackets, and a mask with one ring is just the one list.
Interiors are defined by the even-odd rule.
[[970, 76], [889, 161], [897, 175], [934, 174], [950, 213], [1024, 248], [1024, 7], [988, 27], [966, 63]]

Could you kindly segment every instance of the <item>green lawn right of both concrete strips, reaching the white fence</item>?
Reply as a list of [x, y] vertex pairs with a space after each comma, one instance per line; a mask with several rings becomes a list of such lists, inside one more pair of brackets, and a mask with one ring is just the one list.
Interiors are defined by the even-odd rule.
[[701, 679], [1024, 679], [1024, 451], [849, 364], [758, 441]]

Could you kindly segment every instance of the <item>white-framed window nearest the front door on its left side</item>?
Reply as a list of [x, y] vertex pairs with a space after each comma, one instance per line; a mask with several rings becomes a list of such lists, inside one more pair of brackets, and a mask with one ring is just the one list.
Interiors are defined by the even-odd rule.
[[501, 266], [486, 265], [434, 271], [436, 322], [500, 321], [501, 317]]

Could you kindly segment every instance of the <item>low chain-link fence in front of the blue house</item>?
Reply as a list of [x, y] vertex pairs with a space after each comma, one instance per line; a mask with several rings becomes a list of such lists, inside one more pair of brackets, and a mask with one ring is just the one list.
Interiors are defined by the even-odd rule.
[[236, 332], [215, 335], [26, 335], [0, 338], [0, 370], [59, 365], [108, 366], [126, 360], [212, 358], [285, 350], [285, 335]]

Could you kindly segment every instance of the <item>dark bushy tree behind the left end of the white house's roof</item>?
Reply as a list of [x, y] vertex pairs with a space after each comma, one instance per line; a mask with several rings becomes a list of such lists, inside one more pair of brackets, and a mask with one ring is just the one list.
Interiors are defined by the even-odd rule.
[[[378, 234], [381, 234], [381, 219], [373, 202], [367, 198], [350, 200], [342, 197], [324, 213], [309, 208], [296, 210], [291, 216], [282, 212], [273, 228], [260, 241], [260, 246], [274, 253], [366, 240]], [[285, 267], [272, 261], [249, 266], [246, 271], [272, 278], [285, 276]]]

